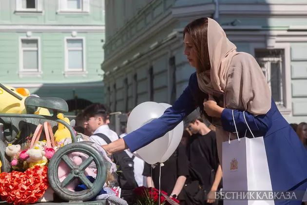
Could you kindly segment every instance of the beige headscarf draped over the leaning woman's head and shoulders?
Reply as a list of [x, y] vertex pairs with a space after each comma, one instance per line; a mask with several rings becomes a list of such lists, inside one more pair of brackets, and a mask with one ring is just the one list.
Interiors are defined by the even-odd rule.
[[[255, 116], [267, 114], [271, 107], [271, 93], [259, 64], [251, 55], [237, 52], [236, 46], [228, 40], [222, 27], [210, 18], [208, 50], [211, 70], [197, 73], [199, 88], [209, 96], [212, 91], [225, 93], [227, 108], [246, 110]], [[216, 127], [220, 164], [222, 142], [228, 139], [229, 133]], [[236, 139], [236, 135], [231, 133], [231, 139]]]

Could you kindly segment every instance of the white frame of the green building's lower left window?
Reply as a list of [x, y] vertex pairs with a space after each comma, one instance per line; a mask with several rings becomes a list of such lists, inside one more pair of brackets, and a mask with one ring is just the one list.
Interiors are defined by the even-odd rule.
[[[38, 69], [24, 69], [23, 68], [23, 47], [22, 40], [37, 40], [38, 41]], [[42, 74], [41, 71], [41, 45], [40, 45], [40, 37], [19, 37], [19, 76], [22, 74], [35, 75]]]

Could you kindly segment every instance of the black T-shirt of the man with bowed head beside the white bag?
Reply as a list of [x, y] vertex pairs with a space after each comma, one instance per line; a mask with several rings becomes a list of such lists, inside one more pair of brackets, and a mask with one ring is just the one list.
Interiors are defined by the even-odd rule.
[[210, 131], [206, 135], [193, 134], [187, 152], [190, 166], [201, 175], [205, 188], [210, 189], [219, 165], [215, 132]]

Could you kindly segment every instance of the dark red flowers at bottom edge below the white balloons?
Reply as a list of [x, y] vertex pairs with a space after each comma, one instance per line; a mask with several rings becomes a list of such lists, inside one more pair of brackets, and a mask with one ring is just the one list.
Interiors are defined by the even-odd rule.
[[[160, 204], [159, 204], [159, 190], [153, 187], [140, 186], [134, 189], [134, 195], [137, 199], [137, 205], [171, 205], [164, 196], [168, 195], [165, 191], [160, 191]], [[172, 200], [179, 204], [177, 199]]]

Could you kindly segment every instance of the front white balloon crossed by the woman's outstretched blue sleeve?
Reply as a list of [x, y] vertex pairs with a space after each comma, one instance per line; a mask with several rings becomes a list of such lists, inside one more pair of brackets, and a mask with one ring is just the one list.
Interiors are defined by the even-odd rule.
[[[165, 107], [157, 102], [143, 102], [131, 111], [127, 121], [127, 133], [131, 133], [141, 126], [163, 115]], [[145, 136], [144, 136], [145, 137]], [[137, 150], [137, 154], [148, 164], [160, 161], [168, 149], [169, 134], [154, 140], [152, 143]]]

